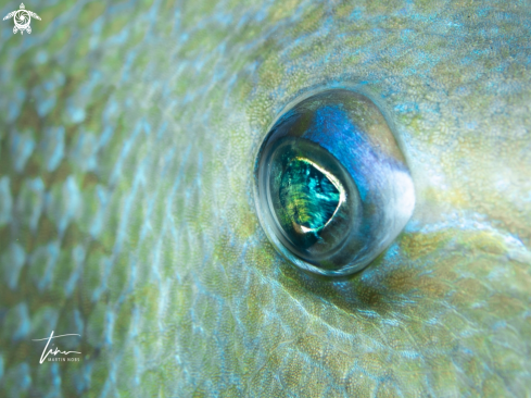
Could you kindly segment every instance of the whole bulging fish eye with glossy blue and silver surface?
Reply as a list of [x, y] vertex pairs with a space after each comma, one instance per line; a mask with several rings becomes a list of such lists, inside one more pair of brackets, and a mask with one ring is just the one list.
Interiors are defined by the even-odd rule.
[[274, 247], [321, 275], [363, 270], [409, 220], [415, 191], [380, 109], [329, 89], [281, 112], [256, 157], [258, 219]]

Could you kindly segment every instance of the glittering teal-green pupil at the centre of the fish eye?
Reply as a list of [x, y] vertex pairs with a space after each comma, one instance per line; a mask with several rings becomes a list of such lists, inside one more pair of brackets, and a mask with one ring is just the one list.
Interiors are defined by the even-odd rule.
[[302, 158], [288, 164], [279, 187], [282, 224], [307, 233], [321, 229], [332, 219], [342, 201], [343, 189], [325, 173]]

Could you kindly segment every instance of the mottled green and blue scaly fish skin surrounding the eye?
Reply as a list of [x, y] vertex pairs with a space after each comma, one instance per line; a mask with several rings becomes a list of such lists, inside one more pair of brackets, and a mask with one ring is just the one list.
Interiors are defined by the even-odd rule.
[[[529, 2], [26, 5], [31, 35], [0, 26], [2, 396], [531, 395]], [[258, 225], [254, 156], [299, 95], [359, 84], [417, 206], [316, 278]], [[52, 329], [80, 362], [38, 364]]]

